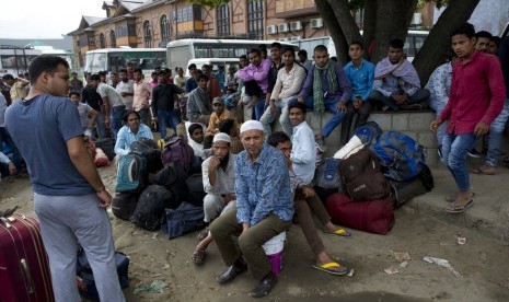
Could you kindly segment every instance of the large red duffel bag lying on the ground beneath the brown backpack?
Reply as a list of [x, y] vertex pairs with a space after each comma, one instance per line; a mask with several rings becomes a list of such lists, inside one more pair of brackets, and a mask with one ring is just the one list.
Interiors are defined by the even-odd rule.
[[354, 201], [344, 194], [333, 194], [325, 204], [331, 221], [335, 224], [385, 235], [394, 225], [391, 197], [378, 200]]

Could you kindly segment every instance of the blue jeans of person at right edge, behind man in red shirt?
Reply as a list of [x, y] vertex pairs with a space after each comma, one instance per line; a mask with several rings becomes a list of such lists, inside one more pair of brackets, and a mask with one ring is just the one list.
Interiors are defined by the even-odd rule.
[[489, 166], [497, 166], [498, 158], [500, 156], [500, 148], [502, 146], [504, 129], [509, 119], [509, 98], [504, 102], [504, 108], [500, 114], [495, 118], [489, 127], [488, 137], [488, 152], [486, 154], [485, 164]]

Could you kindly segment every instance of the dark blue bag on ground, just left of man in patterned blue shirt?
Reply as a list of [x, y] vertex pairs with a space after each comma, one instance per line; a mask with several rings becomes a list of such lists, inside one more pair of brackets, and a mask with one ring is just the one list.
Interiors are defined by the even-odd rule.
[[182, 202], [176, 209], [166, 209], [165, 232], [174, 239], [205, 228], [204, 208]]

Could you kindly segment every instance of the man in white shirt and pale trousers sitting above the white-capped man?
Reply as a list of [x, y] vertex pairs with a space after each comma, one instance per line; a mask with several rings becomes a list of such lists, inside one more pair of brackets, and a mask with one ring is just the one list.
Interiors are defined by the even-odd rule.
[[281, 50], [285, 68], [278, 71], [276, 85], [270, 95], [269, 106], [259, 121], [264, 125], [265, 136], [271, 133], [271, 123], [279, 116], [282, 130], [288, 136], [292, 133], [292, 126], [288, 119], [288, 103], [297, 98], [305, 80], [305, 70], [296, 63], [296, 55], [292, 47], [284, 47]]

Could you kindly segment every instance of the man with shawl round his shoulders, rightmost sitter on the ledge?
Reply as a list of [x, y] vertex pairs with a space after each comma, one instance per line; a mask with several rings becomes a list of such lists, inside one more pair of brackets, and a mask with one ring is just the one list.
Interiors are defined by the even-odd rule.
[[429, 91], [420, 89], [419, 76], [403, 57], [403, 40], [389, 43], [389, 56], [374, 68], [370, 100], [383, 111], [419, 111], [426, 106]]

